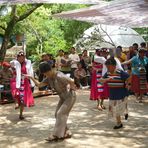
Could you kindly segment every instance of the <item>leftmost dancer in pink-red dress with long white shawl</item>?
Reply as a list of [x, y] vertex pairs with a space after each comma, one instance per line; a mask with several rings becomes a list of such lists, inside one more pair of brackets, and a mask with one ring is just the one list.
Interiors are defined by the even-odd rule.
[[10, 81], [12, 96], [15, 99], [15, 109], [20, 108], [19, 119], [23, 120], [24, 107], [34, 106], [34, 98], [31, 87], [34, 87], [33, 81], [24, 78], [24, 74], [33, 76], [31, 61], [25, 58], [24, 51], [19, 51], [17, 59], [10, 62], [14, 71], [14, 77]]

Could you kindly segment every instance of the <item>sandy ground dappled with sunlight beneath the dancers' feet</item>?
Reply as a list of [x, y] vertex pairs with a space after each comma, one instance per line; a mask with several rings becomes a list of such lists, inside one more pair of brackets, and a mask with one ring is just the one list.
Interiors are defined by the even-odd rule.
[[113, 130], [114, 120], [108, 120], [107, 110], [96, 109], [88, 90], [78, 90], [77, 95], [68, 120], [73, 137], [58, 143], [44, 140], [54, 128], [57, 95], [35, 98], [35, 106], [25, 108], [24, 121], [18, 119], [14, 104], [0, 106], [0, 148], [147, 148], [148, 98], [139, 104], [130, 96], [129, 119], [123, 118], [124, 128]]

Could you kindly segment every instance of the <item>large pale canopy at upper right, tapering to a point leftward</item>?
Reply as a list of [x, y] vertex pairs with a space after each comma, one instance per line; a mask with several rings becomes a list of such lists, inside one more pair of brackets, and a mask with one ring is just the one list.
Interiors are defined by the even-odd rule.
[[95, 24], [148, 27], [148, 0], [114, 0], [54, 16]]

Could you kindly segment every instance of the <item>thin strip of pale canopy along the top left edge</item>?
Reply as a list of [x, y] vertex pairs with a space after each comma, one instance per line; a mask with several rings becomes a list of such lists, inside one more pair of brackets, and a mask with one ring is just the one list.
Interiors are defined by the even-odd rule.
[[0, 0], [0, 4], [22, 3], [61, 3], [61, 4], [99, 4], [101, 0]]

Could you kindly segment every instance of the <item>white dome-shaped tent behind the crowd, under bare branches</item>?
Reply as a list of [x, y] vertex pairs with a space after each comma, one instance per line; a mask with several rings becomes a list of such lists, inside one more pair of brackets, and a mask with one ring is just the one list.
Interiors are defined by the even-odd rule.
[[76, 46], [80, 44], [80, 46], [87, 46], [87, 48], [112, 48], [117, 46], [128, 48], [133, 43], [140, 44], [142, 42], [145, 42], [145, 40], [129, 27], [95, 25], [84, 31], [83, 37], [77, 41]]

